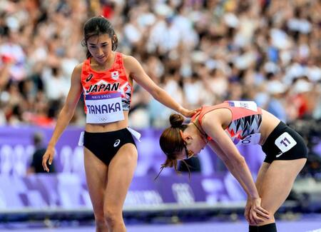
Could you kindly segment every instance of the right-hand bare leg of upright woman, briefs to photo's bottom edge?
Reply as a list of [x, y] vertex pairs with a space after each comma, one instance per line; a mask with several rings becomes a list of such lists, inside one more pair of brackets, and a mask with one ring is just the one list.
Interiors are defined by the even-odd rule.
[[123, 203], [137, 166], [137, 156], [136, 146], [126, 143], [109, 163], [103, 211], [111, 232], [126, 231]]

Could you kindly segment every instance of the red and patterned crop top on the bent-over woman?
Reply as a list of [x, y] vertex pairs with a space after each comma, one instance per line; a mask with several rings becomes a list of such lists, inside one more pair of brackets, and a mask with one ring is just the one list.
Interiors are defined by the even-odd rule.
[[232, 112], [232, 121], [225, 128], [225, 132], [228, 133], [228, 136], [230, 136], [235, 145], [259, 143], [262, 110], [254, 101], [224, 101], [223, 104], [215, 106], [203, 106], [193, 116], [192, 121], [199, 116], [198, 121], [202, 125], [202, 119], [205, 114], [222, 108], [229, 109]]

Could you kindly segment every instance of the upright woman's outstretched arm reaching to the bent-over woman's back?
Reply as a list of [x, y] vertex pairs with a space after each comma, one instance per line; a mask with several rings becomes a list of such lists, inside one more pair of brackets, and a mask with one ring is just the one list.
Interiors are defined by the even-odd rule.
[[146, 74], [143, 67], [133, 56], [123, 56], [123, 62], [131, 76], [143, 89], [146, 89], [154, 99], [161, 102], [170, 109], [183, 114], [186, 117], [193, 116], [196, 111], [189, 111], [177, 103], [165, 90], [161, 89], [154, 81]]

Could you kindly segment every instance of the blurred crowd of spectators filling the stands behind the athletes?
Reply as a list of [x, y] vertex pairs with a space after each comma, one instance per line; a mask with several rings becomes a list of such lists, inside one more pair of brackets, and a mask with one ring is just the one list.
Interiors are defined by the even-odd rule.
[[[188, 109], [254, 100], [287, 123], [320, 120], [320, 12], [318, 0], [0, 0], [0, 125], [54, 125], [95, 15]], [[134, 89], [131, 126], [167, 126], [172, 111]], [[81, 100], [71, 123], [84, 118]]]

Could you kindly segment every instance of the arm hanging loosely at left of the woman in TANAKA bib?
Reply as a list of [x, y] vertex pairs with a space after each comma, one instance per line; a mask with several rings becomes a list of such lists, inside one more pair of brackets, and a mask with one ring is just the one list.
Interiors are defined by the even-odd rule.
[[42, 158], [42, 166], [44, 166], [45, 171], [49, 171], [49, 168], [47, 167], [46, 162], [49, 161], [49, 164], [51, 164], [54, 158], [54, 146], [56, 146], [58, 138], [61, 136], [61, 133], [63, 133], [66, 126], [68, 126], [68, 123], [71, 121], [71, 118], [73, 117], [77, 103], [79, 101], [79, 97], [81, 96], [82, 66], [83, 66], [82, 64], [78, 64], [75, 67], [75, 69], [73, 69], [73, 74], [71, 74], [71, 87], [69, 89], [68, 96], [58, 116], [57, 123], [54, 128], [54, 133], [51, 136], [46, 153], [44, 153], [44, 156]]

